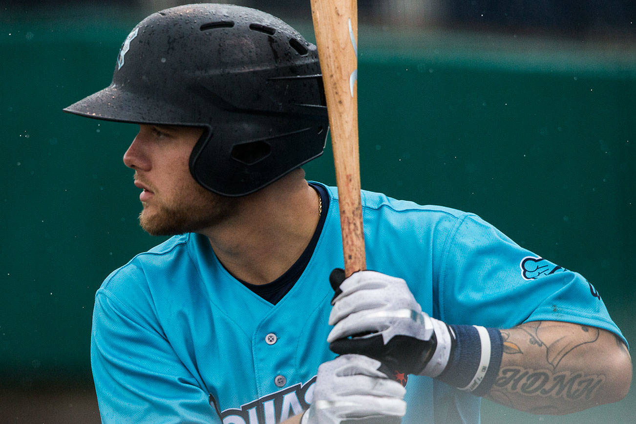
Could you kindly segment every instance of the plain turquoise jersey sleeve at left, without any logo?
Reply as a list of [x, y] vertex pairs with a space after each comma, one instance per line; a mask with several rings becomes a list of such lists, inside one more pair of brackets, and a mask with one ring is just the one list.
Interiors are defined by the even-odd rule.
[[91, 366], [104, 424], [221, 422], [156, 323], [104, 288], [95, 296]]

